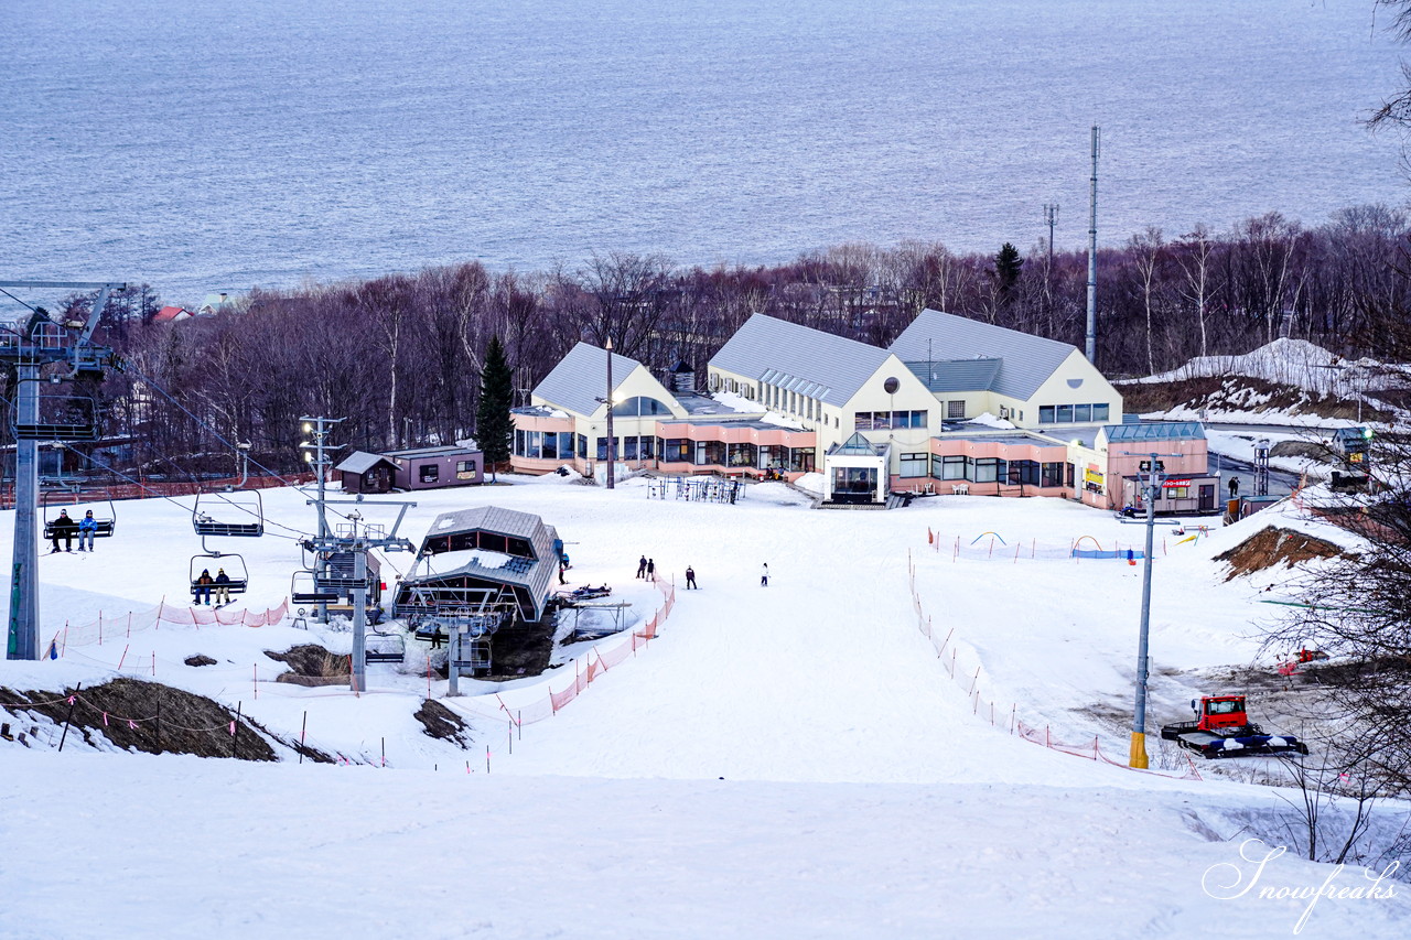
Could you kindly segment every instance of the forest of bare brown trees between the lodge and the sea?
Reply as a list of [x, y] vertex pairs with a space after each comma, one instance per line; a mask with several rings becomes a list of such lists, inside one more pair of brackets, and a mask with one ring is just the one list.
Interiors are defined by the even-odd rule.
[[[1345, 356], [1407, 361], [1408, 216], [1359, 206], [1309, 229], [1278, 213], [1230, 231], [1151, 227], [1098, 260], [1098, 364], [1113, 378], [1192, 356], [1307, 339]], [[277, 470], [298, 466], [298, 418], [341, 416], [351, 447], [474, 436], [490, 339], [504, 344], [516, 404], [579, 340], [608, 337], [652, 368], [704, 371], [755, 312], [888, 344], [935, 308], [1082, 347], [1086, 255], [1047, 246], [992, 255], [941, 244], [841, 246], [776, 267], [682, 268], [607, 254], [574, 271], [491, 272], [477, 263], [291, 292], [255, 291], [241, 313], [154, 323], [131, 289], [102, 333], [128, 368], [97, 390], [107, 433], [133, 435], [144, 476], [229, 473], [229, 440]], [[72, 298], [82, 306], [86, 298]]]

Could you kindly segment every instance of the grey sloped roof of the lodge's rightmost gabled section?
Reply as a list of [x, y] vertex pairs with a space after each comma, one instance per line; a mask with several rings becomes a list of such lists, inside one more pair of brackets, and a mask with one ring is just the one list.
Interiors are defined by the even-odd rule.
[[[924, 375], [928, 361], [999, 361], [989, 390], [1019, 399], [1031, 398], [1064, 360], [1077, 351], [1068, 343], [931, 309], [921, 311], [889, 349], [913, 373], [920, 366], [923, 371], [919, 375]], [[957, 378], [959, 377], [978, 380], [979, 374], [957, 373]]]

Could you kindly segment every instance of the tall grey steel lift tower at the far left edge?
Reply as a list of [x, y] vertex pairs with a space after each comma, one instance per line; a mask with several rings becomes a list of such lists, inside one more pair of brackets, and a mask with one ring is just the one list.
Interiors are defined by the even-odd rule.
[[40, 442], [97, 440], [97, 402], [69, 394], [41, 394], [41, 385], [102, 380], [117, 364], [107, 346], [93, 343], [109, 294], [127, 288], [117, 282], [0, 281], [0, 288], [97, 291], [87, 320], [42, 316], [38, 311], [23, 325], [0, 327], [0, 363], [14, 375], [10, 394], [14, 411], [14, 555], [10, 572], [10, 632], [7, 659], [40, 658], [38, 512]]

